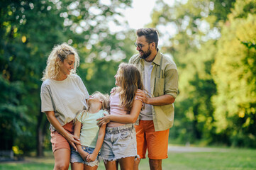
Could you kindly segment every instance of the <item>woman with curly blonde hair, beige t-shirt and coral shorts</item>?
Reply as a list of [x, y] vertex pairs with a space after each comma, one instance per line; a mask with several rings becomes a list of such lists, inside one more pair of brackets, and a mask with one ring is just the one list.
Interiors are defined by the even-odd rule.
[[88, 91], [77, 76], [79, 56], [74, 47], [62, 43], [53, 47], [43, 72], [41, 110], [50, 122], [54, 169], [68, 169], [70, 146], [77, 150], [79, 138], [73, 135], [73, 120], [87, 108]]

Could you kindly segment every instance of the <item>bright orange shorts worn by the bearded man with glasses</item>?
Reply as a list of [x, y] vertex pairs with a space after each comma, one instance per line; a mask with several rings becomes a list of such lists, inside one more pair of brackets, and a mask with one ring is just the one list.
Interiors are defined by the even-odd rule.
[[153, 120], [140, 120], [135, 125], [137, 153], [145, 158], [148, 149], [149, 159], [166, 159], [168, 157], [169, 129], [155, 132]]

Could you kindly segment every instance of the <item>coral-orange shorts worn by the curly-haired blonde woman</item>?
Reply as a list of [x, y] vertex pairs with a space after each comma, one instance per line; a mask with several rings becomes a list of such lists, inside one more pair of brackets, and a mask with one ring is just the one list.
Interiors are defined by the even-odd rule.
[[[74, 133], [74, 125], [72, 122], [69, 122], [62, 127], [65, 128], [65, 130], [67, 130], [67, 132], [69, 132], [71, 134]], [[50, 142], [52, 143], [52, 152], [55, 152], [55, 150], [57, 150], [57, 149], [69, 149], [70, 150], [69, 142], [67, 142], [65, 137], [60, 135], [60, 133], [57, 132], [57, 130], [50, 132], [50, 136], [52, 137], [50, 139]]]

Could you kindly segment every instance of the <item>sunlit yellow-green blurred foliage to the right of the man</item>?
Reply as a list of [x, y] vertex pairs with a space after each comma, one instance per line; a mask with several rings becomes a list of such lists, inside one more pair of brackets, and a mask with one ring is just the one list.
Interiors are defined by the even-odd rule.
[[255, 9], [254, 0], [157, 1], [150, 26], [179, 69], [172, 139], [255, 147]]

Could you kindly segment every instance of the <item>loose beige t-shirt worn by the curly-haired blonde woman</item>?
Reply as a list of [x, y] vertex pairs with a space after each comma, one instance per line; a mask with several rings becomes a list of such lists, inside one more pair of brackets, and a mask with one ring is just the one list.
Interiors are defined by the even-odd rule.
[[[79, 111], [87, 108], [86, 99], [89, 94], [82, 79], [72, 74], [62, 81], [43, 81], [40, 97], [41, 111], [54, 111], [55, 117], [63, 126], [74, 120]], [[55, 128], [50, 125], [50, 130], [54, 131]]]

